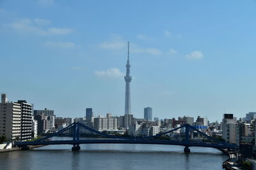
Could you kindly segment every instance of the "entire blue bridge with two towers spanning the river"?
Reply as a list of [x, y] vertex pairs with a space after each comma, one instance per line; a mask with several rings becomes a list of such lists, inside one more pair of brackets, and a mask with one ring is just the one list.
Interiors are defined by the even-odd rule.
[[[80, 139], [81, 128], [85, 129], [88, 132], [96, 134], [97, 137]], [[180, 130], [182, 130], [182, 134], [184, 134], [184, 138], [182, 138], [182, 140], [177, 138], [175, 140], [171, 140], [168, 134], [172, 134], [175, 131], [180, 131]], [[63, 135], [63, 133], [65, 132], [66, 133], [72, 132], [73, 139], [72, 140], [51, 140], [52, 137], [61, 136], [61, 134]], [[197, 132], [200, 136], [204, 137], [204, 141], [193, 141], [193, 139], [190, 139], [189, 136], [191, 136], [192, 132]], [[36, 146], [36, 145], [73, 145], [72, 150], [80, 150], [80, 146], [79, 146], [80, 144], [88, 144], [88, 143], [181, 145], [181, 146], [184, 146], [184, 152], [186, 153], [190, 152], [189, 150], [190, 146], [210, 147], [210, 148], [219, 149], [221, 151], [223, 151], [224, 149], [234, 150], [235, 148], [237, 148], [236, 145], [225, 143], [216, 138], [212, 138], [211, 136], [208, 136], [204, 132], [199, 131], [198, 129], [196, 129], [195, 127], [189, 124], [182, 125], [168, 132], [157, 134], [156, 136], [133, 138], [133, 137], [116, 136], [116, 135], [106, 134], [104, 132], [99, 132], [79, 122], [74, 122], [73, 124], [68, 125], [68, 127], [61, 129], [56, 133], [50, 134], [45, 138], [37, 139], [35, 141], [17, 141], [14, 143], [14, 145], [24, 149], [28, 148], [28, 146]]]

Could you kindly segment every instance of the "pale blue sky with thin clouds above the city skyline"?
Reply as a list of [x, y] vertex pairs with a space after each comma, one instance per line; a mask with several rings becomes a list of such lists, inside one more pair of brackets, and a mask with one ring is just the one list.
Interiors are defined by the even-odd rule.
[[0, 92], [57, 117], [256, 111], [256, 1], [0, 0]]

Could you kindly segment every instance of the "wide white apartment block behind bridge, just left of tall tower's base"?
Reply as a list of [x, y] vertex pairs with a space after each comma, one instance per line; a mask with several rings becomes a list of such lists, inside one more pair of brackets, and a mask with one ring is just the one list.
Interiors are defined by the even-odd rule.
[[117, 131], [116, 117], [97, 117], [93, 121], [94, 129], [97, 131]]

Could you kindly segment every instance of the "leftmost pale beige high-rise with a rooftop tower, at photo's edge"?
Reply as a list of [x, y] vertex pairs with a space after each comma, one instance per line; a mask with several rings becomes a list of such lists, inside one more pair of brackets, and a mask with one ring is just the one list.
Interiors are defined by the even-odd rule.
[[1, 94], [0, 136], [8, 140], [20, 140], [21, 107], [19, 103], [8, 103], [6, 94]]

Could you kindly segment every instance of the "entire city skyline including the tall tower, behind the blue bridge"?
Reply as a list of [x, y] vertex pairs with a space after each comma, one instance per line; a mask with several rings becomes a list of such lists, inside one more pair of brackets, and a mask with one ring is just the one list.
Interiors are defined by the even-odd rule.
[[[178, 118], [164, 119], [154, 117], [153, 120], [153, 109], [146, 107], [144, 108], [144, 117], [135, 118], [131, 111], [130, 83], [132, 77], [130, 76], [130, 68], [128, 44], [126, 75], [124, 76], [124, 115], [113, 116], [111, 113], [106, 113], [106, 117], [95, 117], [93, 109], [86, 108], [84, 117], [56, 117], [54, 110], [47, 108], [34, 110], [33, 104], [27, 101], [18, 100], [17, 102], [10, 102], [7, 100], [6, 94], [1, 94], [0, 137], [4, 136], [8, 141], [28, 141], [38, 136], [58, 132], [73, 122], [80, 122], [96, 131], [108, 134], [148, 137], [164, 133], [166, 136], [161, 137], [181, 141], [184, 139], [184, 129], [182, 130], [178, 127], [189, 124], [193, 127], [193, 130], [189, 132], [189, 136], [194, 141], [203, 141], [204, 138], [200, 134], [204, 132], [213, 138], [227, 143], [236, 145], [249, 143], [256, 145], [256, 112], [246, 113], [245, 117], [239, 118], [239, 120], [232, 113], [225, 113], [223, 114], [222, 122], [210, 123], [207, 118], [200, 117], [200, 115], [196, 118], [186, 115]], [[143, 113], [141, 113], [142, 115]], [[173, 129], [177, 129], [177, 131]], [[171, 130], [175, 131], [175, 133], [170, 133], [169, 131]], [[92, 134], [88, 134], [86, 129], [81, 129], [80, 133], [84, 134], [84, 136], [92, 136]]]

